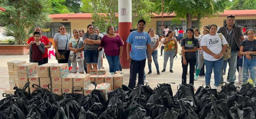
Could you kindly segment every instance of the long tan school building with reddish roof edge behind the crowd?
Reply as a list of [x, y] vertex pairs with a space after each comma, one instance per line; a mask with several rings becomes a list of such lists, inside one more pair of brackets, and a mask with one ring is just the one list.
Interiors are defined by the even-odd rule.
[[[203, 27], [209, 24], [215, 23], [218, 27], [222, 27], [225, 24], [225, 20], [228, 15], [234, 15], [236, 17], [236, 25], [243, 26], [247, 29], [256, 30], [256, 10], [226, 10], [224, 13], [219, 15], [214, 15], [211, 17], [204, 17], [201, 19], [201, 28], [200, 31], [203, 31]], [[93, 18], [90, 13], [67, 13], [67, 14], [52, 14], [49, 15], [53, 19], [52, 23], [46, 24], [46, 29], [42, 29], [42, 34], [48, 38], [53, 38], [54, 34], [58, 33], [58, 27], [60, 24], [65, 25], [66, 30], [69, 34], [73, 36], [73, 29], [83, 29], [87, 31], [86, 27], [88, 24], [93, 24]], [[172, 19], [175, 17], [175, 14], [164, 14], [163, 15], [163, 25], [168, 25], [169, 29], [174, 30], [176, 27], [182, 27], [185, 31], [186, 20], [180, 19], [180, 24], [172, 23]], [[155, 33], [160, 35], [162, 33], [162, 16], [154, 14], [150, 23], [146, 23], [145, 31], [147, 32], [149, 28], [154, 28]], [[192, 28], [195, 28], [196, 19], [192, 21]], [[128, 31], [129, 32], [129, 31]]]

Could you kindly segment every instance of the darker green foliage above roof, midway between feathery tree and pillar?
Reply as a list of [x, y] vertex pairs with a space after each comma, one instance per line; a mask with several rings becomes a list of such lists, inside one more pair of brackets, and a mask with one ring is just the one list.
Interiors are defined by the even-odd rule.
[[81, 0], [66, 0], [65, 5], [68, 7], [69, 11], [72, 13], [80, 13]]

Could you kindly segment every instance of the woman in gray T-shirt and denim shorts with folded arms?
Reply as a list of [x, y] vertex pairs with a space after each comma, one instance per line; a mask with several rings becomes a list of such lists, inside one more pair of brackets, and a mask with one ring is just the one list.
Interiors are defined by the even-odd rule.
[[94, 33], [93, 24], [89, 24], [87, 26], [87, 32], [83, 35], [84, 40], [84, 57], [86, 59], [87, 64], [87, 73], [90, 73], [90, 67], [93, 64], [93, 70], [97, 71], [97, 63], [99, 56], [99, 44], [100, 44], [100, 36], [97, 33]]

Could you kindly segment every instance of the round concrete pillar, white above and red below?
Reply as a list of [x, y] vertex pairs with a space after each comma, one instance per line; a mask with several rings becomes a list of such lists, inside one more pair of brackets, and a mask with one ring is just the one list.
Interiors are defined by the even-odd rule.
[[132, 28], [131, 23], [131, 0], [118, 0], [118, 26], [119, 26], [119, 35], [124, 41], [123, 55], [120, 58], [120, 63], [123, 69], [129, 69], [130, 64], [127, 61], [126, 53], [126, 40], [130, 34], [130, 29]]

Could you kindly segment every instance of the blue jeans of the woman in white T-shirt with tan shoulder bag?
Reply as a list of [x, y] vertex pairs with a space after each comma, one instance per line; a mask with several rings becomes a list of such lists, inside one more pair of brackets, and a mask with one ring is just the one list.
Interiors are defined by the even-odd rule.
[[219, 86], [219, 74], [221, 73], [221, 67], [223, 64], [223, 57], [217, 61], [208, 61], [204, 60], [205, 64], [205, 84], [210, 85], [211, 75], [212, 75], [212, 69], [214, 73], [214, 86]]

